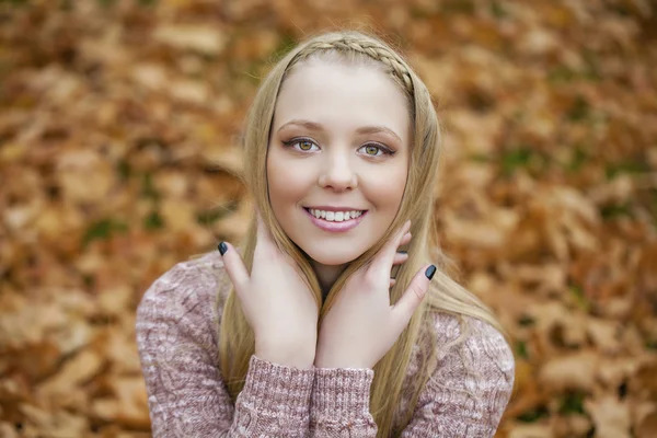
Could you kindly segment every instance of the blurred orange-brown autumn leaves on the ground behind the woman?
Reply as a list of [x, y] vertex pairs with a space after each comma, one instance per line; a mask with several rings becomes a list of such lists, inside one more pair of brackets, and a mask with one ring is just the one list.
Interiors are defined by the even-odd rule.
[[512, 336], [498, 437], [657, 436], [648, 0], [1, 0], [0, 436], [147, 437], [135, 309], [235, 242], [240, 129], [296, 42], [380, 33], [445, 128], [436, 221]]

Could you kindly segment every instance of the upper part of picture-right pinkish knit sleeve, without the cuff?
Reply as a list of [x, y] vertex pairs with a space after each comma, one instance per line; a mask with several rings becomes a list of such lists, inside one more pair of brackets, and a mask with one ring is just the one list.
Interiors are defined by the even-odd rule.
[[[492, 325], [469, 321], [463, 343], [439, 347], [438, 366], [402, 438], [495, 435], [514, 389], [514, 354]], [[460, 334], [454, 318], [442, 319], [438, 330], [451, 341]]]

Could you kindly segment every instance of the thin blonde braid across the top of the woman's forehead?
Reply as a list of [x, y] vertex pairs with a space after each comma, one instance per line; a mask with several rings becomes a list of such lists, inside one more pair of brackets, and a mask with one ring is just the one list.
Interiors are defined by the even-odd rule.
[[383, 62], [391, 68], [392, 73], [402, 81], [406, 91], [413, 95], [413, 80], [411, 79], [408, 69], [401, 59], [380, 44], [366, 39], [343, 36], [334, 42], [311, 43], [297, 54], [288, 65], [288, 69], [320, 50], [356, 51], [367, 55], [379, 62]]

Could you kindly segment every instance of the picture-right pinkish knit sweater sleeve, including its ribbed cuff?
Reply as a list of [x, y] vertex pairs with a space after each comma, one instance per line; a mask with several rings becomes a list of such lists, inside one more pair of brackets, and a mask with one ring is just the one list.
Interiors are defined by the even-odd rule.
[[[439, 319], [439, 361], [402, 438], [495, 435], [514, 388], [514, 356], [493, 326], [471, 319], [470, 327], [466, 339], [450, 347], [460, 334], [458, 320]], [[372, 379], [370, 369], [315, 369], [311, 436], [374, 438]]]

